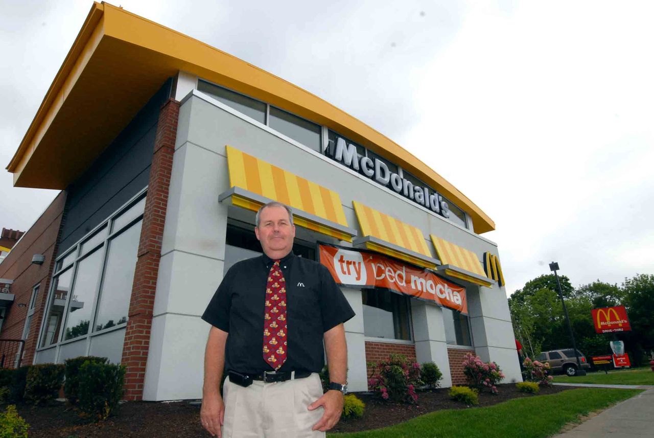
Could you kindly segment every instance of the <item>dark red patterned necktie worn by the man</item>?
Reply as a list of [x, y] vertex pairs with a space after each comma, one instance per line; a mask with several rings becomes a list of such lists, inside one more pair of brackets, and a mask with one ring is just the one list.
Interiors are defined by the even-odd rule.
[[286, 362], [286, 280], [275, 260], [266, 284], [264, 360], [275, 371]]

